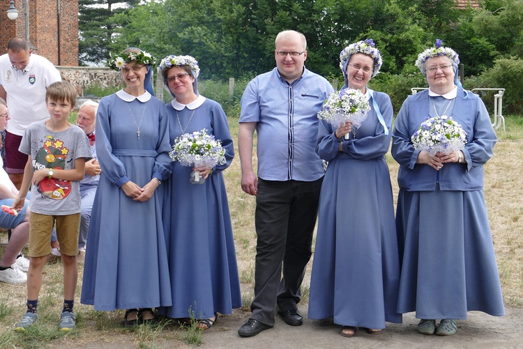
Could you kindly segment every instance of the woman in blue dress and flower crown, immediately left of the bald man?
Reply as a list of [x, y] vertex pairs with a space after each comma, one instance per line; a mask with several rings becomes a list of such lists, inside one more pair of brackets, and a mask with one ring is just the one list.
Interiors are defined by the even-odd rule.
[[220, 104], [198, 94], [199, 67], [190, 56], [170, 55], [158, 67], [174, 100], [167, 103], [171, 144], [184, 133], [206, 129], [222, 142], [226, 162], [199, 168], [204, 184], [191, 184], [191, 167], [172, 163], [165, 181], [165, 238], [169, 252], [172, 306], [160, 309], [169, 318], [198, 320], [208, 329], [216, 313], [241, 306], [240, 281], [231, 216], [222, 171], [234, 158], [227, 117]]

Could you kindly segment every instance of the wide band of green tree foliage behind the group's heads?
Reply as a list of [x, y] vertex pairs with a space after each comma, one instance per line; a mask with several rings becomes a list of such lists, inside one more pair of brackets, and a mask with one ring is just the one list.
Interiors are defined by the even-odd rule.
[[[81, 9], [109, 2], [132, 7], [138, 0], [79, 1]], [[378, 75], [377, 84], [400, 87], [403, 82], [423, 82], [414, 61], [436, 38], [460, 54], [467, 76], [492, 72], [500, 59], [519, 59], [523, 1], [480, 4], [457, 8], [454, 0], [142, 0], [134, 8], [113, 10], [111, 17], [101, 10], [89, 14], [98, 21], [93, 27], [103, 30], [91, 32], [81, 25], [80, 52], [91, 61], [107, 57], [107, 47], [121, 51], [137, 46], [158, 59], [190, 54], [199, 61], [203, 79], [249, 78], [275, 66], [276, 34], [295, 29], [308, 39], [306, 66], [327, 77], [341, 78], [339, 53], [345, 46], [373, 38], [384, 58], [381, 70], [388, 74], [381, 80]], [[93, 24], [91, 17], [82, 21]]]

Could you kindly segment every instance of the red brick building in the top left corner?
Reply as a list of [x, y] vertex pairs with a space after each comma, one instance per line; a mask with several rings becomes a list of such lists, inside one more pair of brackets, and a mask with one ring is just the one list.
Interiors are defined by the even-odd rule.
[[56, 66], [78, 66], [78, 0], [15, 0], [16, 20], [9, 20], [9, 0], [0, 0], [0, 54], [10, 38], [26, 38], [25, 5], [29, 15], [29, 42], [38, 54]]

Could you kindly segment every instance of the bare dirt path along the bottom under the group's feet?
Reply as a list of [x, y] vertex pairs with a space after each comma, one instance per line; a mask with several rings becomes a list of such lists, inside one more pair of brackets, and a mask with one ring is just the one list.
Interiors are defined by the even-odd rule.
[[[305, 309], [301, 309], [305, 313]], [[454, 336], [424, 336], [418, 334], [418, 320], [414, 313], [404, 315], [403, 324], [388, 324], [384, 334], [370, 335], [359, 329], [354, 338], [344, 338], [338, 334], [340, 326], [326, 320], [308, 320], [303, 325], [292, 327], [276, 318], [272, 329], [257, 336], [242, 338], [238, 328], [248, 318], [249, 313], [234, 311], [232, 315], [222, 316], [218, 322], [203, 334], [204, 343], [199, 348], [523, 348], [523, 309], [506, 309], [503, 317], [494, 317], [480, 312], [470, 312], [469, 320], [457, 322]], [[169, 336], [167, 336], [169, 337]], [[123, 334], [110, 339], [96, 339], [82, 343], [84, 348], [137, 348]], [[197, 348], [188, 346], [181, 339], [155, 341], [155, 348]], [[73, 348], [56, 346], [53, 348]]]

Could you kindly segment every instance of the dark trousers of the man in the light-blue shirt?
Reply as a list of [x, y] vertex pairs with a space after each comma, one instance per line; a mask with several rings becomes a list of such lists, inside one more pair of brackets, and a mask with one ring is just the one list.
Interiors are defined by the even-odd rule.
[[274, 325], [277, 305], [280, 311], [287, 311], [296, 309], [300, 302], [301, 282], [312, 255], [322, 180], [258, 179], [255, 299], [250, 318]]

